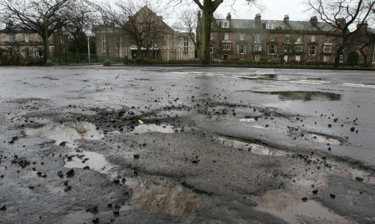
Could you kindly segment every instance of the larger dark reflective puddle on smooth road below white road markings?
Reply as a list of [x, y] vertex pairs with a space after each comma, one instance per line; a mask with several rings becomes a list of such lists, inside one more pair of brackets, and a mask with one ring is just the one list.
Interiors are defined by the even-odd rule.
[[308, 91], [280, 91], [280, 92], [258, 92], [252, 91], [253, 93], [260, 93], [266, 95], [278, 95], [281, 100], [341, 100], [340, 94], [329, 93], [329, 92], [308, 92]]

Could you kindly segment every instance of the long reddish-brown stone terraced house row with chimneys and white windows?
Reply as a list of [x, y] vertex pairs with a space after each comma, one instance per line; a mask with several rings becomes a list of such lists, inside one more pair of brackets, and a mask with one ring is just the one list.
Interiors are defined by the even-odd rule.
[[[367, 24], [362, 25], [360, 32], [348, 40], [340, 63], [353, 50], [360, 55], [359, 63], [365, 58], [367, 62], [375, 61], [374, 33]], [[309, 21], [291, 21], [288, 15], [283, 20], [263, 20], [259, 13], [254, 19], [232, 19], [228, 13], [226, 18], [215, 18], [212, 22], [210, 58], [215, 61], [277, 61], [283, 58], [288, 63], [329, 64], [334, 61], [340, 43], [340, 32], [325, 22], [318, 22], [316, 16]]]

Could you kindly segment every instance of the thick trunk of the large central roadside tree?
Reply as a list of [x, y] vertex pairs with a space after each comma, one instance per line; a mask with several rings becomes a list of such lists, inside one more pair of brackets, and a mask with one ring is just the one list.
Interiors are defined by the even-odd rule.
[[209, 60], [209, 36], [211, 33], [211, 21], [213, 16], [213, 11], [210, 9], [211, 0], [204, 0], [204, 10], [202, 13], [202, 35], [201, 35], [201, 45], [199, 46], [201, 50], [200, 62], [201, 64], [210, 64]]

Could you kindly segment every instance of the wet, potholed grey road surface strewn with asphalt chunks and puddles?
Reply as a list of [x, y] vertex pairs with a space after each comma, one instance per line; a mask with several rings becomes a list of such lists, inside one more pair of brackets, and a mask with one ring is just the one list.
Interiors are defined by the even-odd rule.
[[375, 222], [375, 72], [2, 67], [0, 223]]

